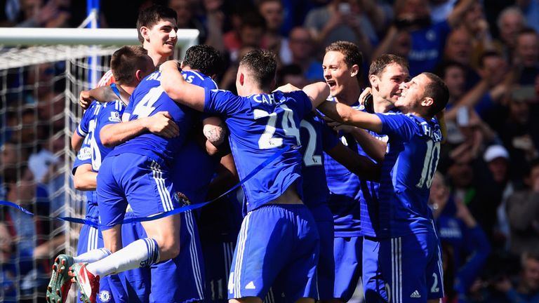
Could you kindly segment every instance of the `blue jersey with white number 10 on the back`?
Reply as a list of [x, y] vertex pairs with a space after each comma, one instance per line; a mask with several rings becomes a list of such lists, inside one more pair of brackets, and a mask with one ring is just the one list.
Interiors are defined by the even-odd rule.
[[434, 231], [427, 206], [440, 157], [441, 130], [436, 119], [411, 114], [376, 114], [381, 134], [389, 136], [380, 177], [382, 237]]

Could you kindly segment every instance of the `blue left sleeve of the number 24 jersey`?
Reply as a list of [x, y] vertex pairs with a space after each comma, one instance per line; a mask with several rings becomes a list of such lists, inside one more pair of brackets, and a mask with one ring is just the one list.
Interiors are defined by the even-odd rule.
[[230, 93], [228, 90], [209, 90], [205, 88], [204, 91], [205, 113], [232, 116], [243, 108], [244, 102], [241, 97]]

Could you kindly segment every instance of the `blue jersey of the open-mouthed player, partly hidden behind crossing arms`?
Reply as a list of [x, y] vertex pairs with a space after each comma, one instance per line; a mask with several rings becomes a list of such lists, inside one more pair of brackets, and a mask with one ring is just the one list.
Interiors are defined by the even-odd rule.
[[[328, 100], [333, 100], [333, 97], [329, 97]], [[352, 105], [352, 108], [363, 109], [359, 102]], [[359, 151], [359, 144], [352, 135], [339, 132], [338, 138], [352, 151]], [[359, 177], [326, 153], [324, 153], [324, 162], [329, 188], [328, 203], [335, 222], [335, 236], [361, 236]]]

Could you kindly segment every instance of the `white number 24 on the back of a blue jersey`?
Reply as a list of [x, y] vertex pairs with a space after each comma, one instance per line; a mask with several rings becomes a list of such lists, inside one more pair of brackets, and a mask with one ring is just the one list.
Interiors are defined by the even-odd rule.
[[[300, 131], [295, 127], [294, 113], [292, 112], [292, 109], [289, 109], [286, 105], [279, 105], [279, 107], [284, 110], [281, 120], [281, 129], [284, 131], [284, 135], [294, 136], [297, 144], [300, 144]], [[265, 110], [255, 109], [253, 114], [255, 115], [255, 120], [269, 117], [269, 119], [267, 119], [264, 133], [262, 133], [260, 139], [258, 139], [258, 148], [272, 149], [275, 147], [281, 147], [283, 145], [283, 138], [274, 137], [275, 130], [277, 130], [275, 126], [277, 124], [277, 112], [272, 112], [270, 114]]]

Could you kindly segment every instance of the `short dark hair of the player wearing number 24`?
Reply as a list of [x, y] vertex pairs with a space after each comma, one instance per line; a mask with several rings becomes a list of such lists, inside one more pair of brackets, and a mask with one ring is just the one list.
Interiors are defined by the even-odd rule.
[[277, 71], [277, 60], [270, 50], [251, 50], [241, 58], [239, 66], [249, 69], [253, 80], [260, 85], [260, 88], [271, 88]]

